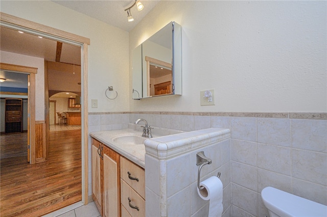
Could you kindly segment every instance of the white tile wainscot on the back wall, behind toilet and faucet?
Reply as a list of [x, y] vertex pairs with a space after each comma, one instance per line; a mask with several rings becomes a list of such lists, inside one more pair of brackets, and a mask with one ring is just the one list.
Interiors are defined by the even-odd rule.
[[[226, 210], [223, 216], [268, 215], [260, 194], [266, 186], [327, 205], [327, 120], [293, 119], [287, 116], [265, 118], [265, 114], [253, 117], [168, 113], [120, 115], [125, 118], [122, 122], [134, 123], [138, 118], [144, 118], [152, 126], [184, 131], [208, 127], [229, 128], [231, 145], [222, 147], [220, 152], [229, 151], [230, 155], [221, 155], [220, 171], [232, 172], [226, 181], [223, 181], [226, 177], [221, 177], [223, 183], [232, 182], [224, 188], [224, 199], [230, 200], [232, 206], [224, 206]], [[111, 118], [113, 120], [120, 115], [111, 114]], [[117, 119], [112, 124], [105, 121], [101, 123], [101, 116], [103, 115], [89, 115], [89, 132], [105, 129], [106, 125], [111, 125], [112, 128], [127, 127], [127, 124], [125, 126], [125, 123]], [[206, 170], [209, 172], [209, 168]], [[196, 175], [191, 175], [192, 180], [194, 176]], [[207, 210], [207, 204], [191, 206], [195, 207], [191, 208], [192, 216], [202, 216]], [[156, 210], [153, 213], [155, 212]]]

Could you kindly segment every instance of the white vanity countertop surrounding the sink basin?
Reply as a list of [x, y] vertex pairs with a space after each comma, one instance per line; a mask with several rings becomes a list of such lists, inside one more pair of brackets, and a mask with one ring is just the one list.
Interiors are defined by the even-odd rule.
[[98, 131], [91, 132], [90, 136], [95, 138], [99, 142], [105, 144], [112, 150], [123, 155], [127, 159], [133, 161], [138, 166], [145, 168], [145, 146], [141, 145], [129, 145], [122, 143], [115, 143], [111, 138], [115, 137], [118, 134], [129, 134], [129, 133], [139, 133], [142, 135], [142, 132], [135, 131], [133, 129], [119, 129], [119, 130], [107, 130], [107, 131]]

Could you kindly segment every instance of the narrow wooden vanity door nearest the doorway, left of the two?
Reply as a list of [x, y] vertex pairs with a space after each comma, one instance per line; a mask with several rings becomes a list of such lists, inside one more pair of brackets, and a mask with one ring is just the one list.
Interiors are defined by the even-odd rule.
[[99, 146], [101, 148], [101, 143], [92, 139], [92, 198], [102, 215], [101, 161], [100, 155], [98, 154]]

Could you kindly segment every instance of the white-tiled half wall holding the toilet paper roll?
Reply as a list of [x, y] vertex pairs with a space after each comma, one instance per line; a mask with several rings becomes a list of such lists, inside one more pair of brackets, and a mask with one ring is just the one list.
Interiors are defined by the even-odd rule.
[[[224, 133], [220, 134], [218, 132]], [[185, 137], [189, 139], [183, 139]], [[152, 149], [156, 150], [157, 146], [153, 144], [157, 144], [157, 142], [166, 144], [166, 154], [161, 152], [161, 154], [157, 154], [152, 151]], [[182, 150], [183, 153], [176, 155], [174, 151], [176, 149]], [[230, 209], [231, 158], [229, 130], [207, 129], [194, 131], [193, 133], [182, 133], [178, 136], [171, 135], [162, 139], [157, 138], [146, 142], [146, 151], [146, 177], [152, 175], [151, 179], [149, 178], [146, 181], [146, 187], [149, 189], [146, 201], [151, 200], [151, 203], [153, 203], [154, 198], [151, 196], [159, 188], [159, 195], [156, 195], [156, 197], [160, 198], [160, 216], [197, 216], [197, 214], [208, 213], [207, 204], [209, 201], [201, 199], [197, 192], [198, 166], [196, 165], [196, 153], [199, 151], [204, 151], [204, 154], [212, 159], [212, 164], [202, 167], [200, 181], [211, 176], [217, 176], [218, 172], [221, 172], [223, 195], [225, 195], [223, 196], [224, 211]], [[158, 170], [160, 174], [158, 174]], [[154, 177], [158, 175], [159, 187], [157, 186], [158, 178]], [[158, 205], [154, 204], [154, 206], [157, 207]], [[148, 208], [150, 210], [146, 211], [146, 215], [150, 216], [148, 213], [153, 213], [153, 210], [152, 207]]]

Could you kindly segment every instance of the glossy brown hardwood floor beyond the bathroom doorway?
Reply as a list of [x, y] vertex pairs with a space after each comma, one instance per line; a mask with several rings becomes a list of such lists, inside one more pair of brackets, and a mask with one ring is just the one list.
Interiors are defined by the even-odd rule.
[[[1, 135], [3, 143], [15, 145]], [[1, 149], [3, 152], [3, 149]], [[2, 155], [1, 155], [2, 156]], [[41, 216], [82, 200], [81, 130], [50, 131], [48, 161], [1, 158], [0, 215]]]

